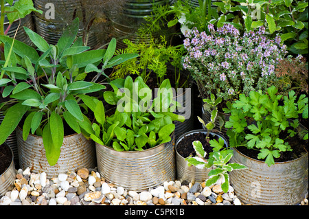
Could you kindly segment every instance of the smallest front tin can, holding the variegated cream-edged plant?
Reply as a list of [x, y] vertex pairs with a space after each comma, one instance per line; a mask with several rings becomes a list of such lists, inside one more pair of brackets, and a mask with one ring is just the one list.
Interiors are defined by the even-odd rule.
[[[204, 168], [204, 169], [198, 169], [194, 165], [188, 166], [188, 162], [185, 161], [185, 157], [182, 157], [181, 154], [178, 152], [179, 142], [188, 135], [194, 135], [198, 132], [203, 132], [203, 134], [206, 135], [207, 131], [204, 129], [198, 129], [198, 130], [192, 130], [190, 132], [186, 132], [185, 134], [181, 135], [179, 139], [176, 141], [176, 178], [177, 180], [181, 181], [182, 183], [202, 183], [207, 178], [209, 178], [208, 173], [212, 168]], [[218, 133], [210, 133], [211, 135], [217, 135], [219, 137], [222, 137], [222, 139], [225, 141], [225, 145], [228, 145], [227, 139], [223, 135], [220, 135]]]

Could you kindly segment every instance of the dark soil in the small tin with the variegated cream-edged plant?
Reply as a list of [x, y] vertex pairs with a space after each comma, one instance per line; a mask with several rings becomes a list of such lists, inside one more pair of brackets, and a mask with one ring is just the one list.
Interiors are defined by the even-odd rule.
[[[216, 138], [218, 140], [218, 136], [213, 137], [212, 135], [209, 135], [209, 139]], [[209, 146], [209, 143], [206, 141], [206, 134], [203, 132], [198, 132], [193, 135], [187, 135], [185, 136], [176, 146], [177, 152], [181, 155], [181, 157], [189, 157], [192, 155], [193, 157], [196, 156], [196, 152], [192, 146], [193, 141], [201, 141], [203, 148], [205, 152], [207, 152], [205, 159], [208, 159], [209, 153], [212, 152], [211, 146]]]

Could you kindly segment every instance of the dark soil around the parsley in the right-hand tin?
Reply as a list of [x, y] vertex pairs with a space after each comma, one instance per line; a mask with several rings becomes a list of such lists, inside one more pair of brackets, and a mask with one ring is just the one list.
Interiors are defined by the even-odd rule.
[[[287, 136], [286, 132], [282, 132], [282, 134], [279, 135], [280, 139], [285, 139], [286, 136]], [[308, 140], [304, 141], [302, 139], [299, 139], [298, 135], [287, 139], [285, 142], [288, 142], [288, 144], [292, 148], [292, 151], [282, 152], [279, 158], [274, 157], [275, 162], [293, 161], [294, 159], [302, 157], [309, 151]], [[248, 157], [251, 157], [253, 159], [258, 159], [258, 154], [260, 153], [260, 150], [253, 150], [253, 149], [249, 150], [247, 149], [247, 147], [238, 147], [237, 150], [239, 150], [242, 154], [247, 155]], [[265, 159], [261, 161], [265, 161]]]

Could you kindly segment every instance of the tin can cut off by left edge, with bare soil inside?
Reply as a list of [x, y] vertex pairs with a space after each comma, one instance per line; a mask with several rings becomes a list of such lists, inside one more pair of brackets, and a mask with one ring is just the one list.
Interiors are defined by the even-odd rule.
[[8, 168], [2, 173], [0, 172], [0, 197], [4, 196], [6, 192], [10, 191], [14, 187], [14, 180], [16, 178], [14, 155], [12, 149], [7, 143], [3, 143], [0, 147], [6, 147], [10, 151], [12, 160]]

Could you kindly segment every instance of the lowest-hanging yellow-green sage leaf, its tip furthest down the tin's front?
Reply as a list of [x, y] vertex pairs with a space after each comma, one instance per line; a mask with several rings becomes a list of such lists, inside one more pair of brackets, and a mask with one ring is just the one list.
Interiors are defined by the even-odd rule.
[[49, 122], [43, 128], [42, 137], [47, 161], [49, 165], [53, 166], [57, 163], [61, 150], [60, 147], [55, 146], [53, 142], [53, 134], [50, 130]]

